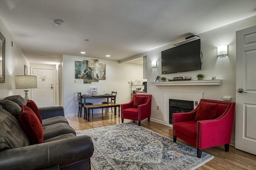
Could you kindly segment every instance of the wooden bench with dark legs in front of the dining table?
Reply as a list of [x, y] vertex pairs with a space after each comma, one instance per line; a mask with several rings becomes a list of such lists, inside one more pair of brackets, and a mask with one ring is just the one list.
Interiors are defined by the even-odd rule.
[[[84, 119], [87, 119], [89, 121], [90, 116], [90, 109], [102, 109], [102, 108], [108, 108], [108, 107], [114, 107], [114, 113], [116, 115], [116, 107], [118, 107], [118, 117], [120, 117], [120, 104], [112, 103], [112, 104], [95, 104], [95, 105], [87, 105], [84, 106]], [[85, 110], [87, 110], [87, 114], [85, 113]], [[87, 117], [88, 115], [88, 117]]]

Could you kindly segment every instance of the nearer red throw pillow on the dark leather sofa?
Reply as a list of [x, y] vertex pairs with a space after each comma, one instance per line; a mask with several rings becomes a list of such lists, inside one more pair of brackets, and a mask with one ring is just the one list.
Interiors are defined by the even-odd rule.
[[30, 141], [30, 144], [38, 144], [43, 142], [44, 129], [36, 114], [29, 107], [25, 105], [22, 107], [19, 121], [22, 129]]

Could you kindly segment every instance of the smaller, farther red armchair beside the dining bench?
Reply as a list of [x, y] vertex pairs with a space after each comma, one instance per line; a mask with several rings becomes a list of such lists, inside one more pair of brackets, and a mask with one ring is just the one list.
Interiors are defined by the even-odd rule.
[[122, 123], [124, 119], [136, 120], [139, 123], [143, 119], [150, 120], [151, 94], [134, 94], [129, 103], [121, 104]]

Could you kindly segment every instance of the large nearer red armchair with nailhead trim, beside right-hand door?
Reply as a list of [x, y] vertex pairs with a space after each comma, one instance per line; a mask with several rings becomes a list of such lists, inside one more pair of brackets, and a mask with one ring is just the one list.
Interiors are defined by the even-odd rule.
[[220, 145], [228, 152], [234, 111], [234, 102], [201, 99], [193, 111], [173, 113], [173, 141], [178, 137], [196, 147], [198, 158], [203, 149]]

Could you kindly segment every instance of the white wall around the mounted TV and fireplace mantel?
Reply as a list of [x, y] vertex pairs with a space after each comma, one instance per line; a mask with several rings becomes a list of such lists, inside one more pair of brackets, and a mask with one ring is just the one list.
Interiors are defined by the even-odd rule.
[[[162, 122], [163, 113], [163, 92], [202, 92], [203, 98], [222, 100], [223, 96], [230, 96], [232, 102], [236, 101], [236, 31], [256, 25], [256, 16], [247, 18], [245, 20], [237, 21], [199, 34], [201, 38], [201, 50], [203, 53], [202, 58], [202, 70], [181, 72], [175, 74], [161, 74], [161, 51], [174, 47], [171, 45], [165, 45], [158, 49], [148, 51], [138, 55], [147, 55], [147, 64], [150, 65], [151, 61], [157, 61], [157, 68], [147, 69], [148, 75], [148, 93], [152, 94], [152, 108], [151, 118], [152, 120]], [[180, 41], [180, 40], [177, 40]], [[176, 42], [176, 41], [175, 41]], [[217, 47], [219, 45], [228, 45], [228, 56], [217, 57]], [[192, 77], [192, 80], [196, 80], [196, 75], [202, 73], [205, 76], [205, 80], [212, 79], [216, 76], [216, 79], [222, 79], [220, 86], [152, 86], [150, 82], [153, 82], [157, 75], [164, 76], [172, 79], [173, 76], [186, 76], [186, 78]], [[160, 109], [157, 110], [156, 106]], [[234, 123], [235, 124], [235, 123]], [[233, 133], [231, 141], [235, 140], [235, 127], [233, 125]]]

